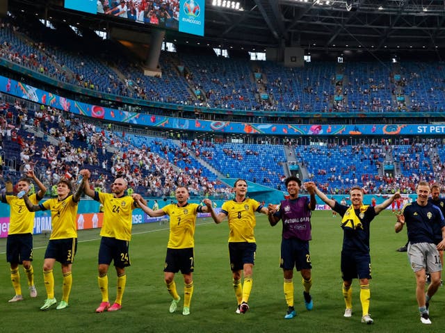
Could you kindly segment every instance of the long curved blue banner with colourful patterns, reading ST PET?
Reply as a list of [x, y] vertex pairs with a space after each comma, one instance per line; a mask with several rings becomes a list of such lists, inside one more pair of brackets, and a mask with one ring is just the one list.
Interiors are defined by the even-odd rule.
[[445, 124], [259, 124], [212, 122], [211, 120], [184, 119], [150, 115], [147, 113], [134, 113], [60, 97], [51, 92], [8, 79], [5, 76], [0, 76], [0, 91], [78, 115], [157, 129], [281, 136], [443, 136], [445, 134]]

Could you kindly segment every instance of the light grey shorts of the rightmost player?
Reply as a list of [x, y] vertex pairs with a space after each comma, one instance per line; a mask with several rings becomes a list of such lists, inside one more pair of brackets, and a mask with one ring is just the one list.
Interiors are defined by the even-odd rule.
[[409, 243], [407, 254], [414, 273], [422, 269], [428, 273], [442, 271], [439, 251], [434, 243]]

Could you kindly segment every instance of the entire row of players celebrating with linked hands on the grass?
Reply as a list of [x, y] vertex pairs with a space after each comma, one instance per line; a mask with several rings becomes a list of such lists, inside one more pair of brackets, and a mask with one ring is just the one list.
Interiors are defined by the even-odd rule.
[[[309, 241], [312, 239], [310, 218], [316, 208], [316, 197], [323, 200], [333, 211], [341, 216], [343, 229], [343, 247], [341, 250], [342, 291], [346, 304], [345, 317], [353, 315], [352, 282], [359, 279], [359, 299], [362, 304], [362, 323], [372, 324], [369, 315], [371, 291], [371, 257], [369, 254], [370, 224], [373, 218], [386, 209], [401, 195], [395, 193], [381, 204], [371, 206], [363, 204], [363, 190], [353, 187], [350, 190], [351, 205], [339, 204], [328, 198], [314, 182], [304, 184], [309, 196], [300, 196], [302, 183], [297, 177], [288, 177], [285, 185], [289, 197], [280, 204], [264, 206], [247, 197], [248, 184], [238, 179], [234, 184], [234, 200], [223, 204], [220, 211], [213, 211], [211, 200], [205, 199], [204, 206], [189, 203], [186, 187], [175, 190], [177, 203], [168, 204], [162, 209], [150, 209], [147, 202], [137, 193], [125, 195], [127, 181], [115, 179], [111, 193], [99, 193], [90, 187], [89, 170], [81, 170], [81, 184], [74, 193], [70, 181], [61, 179], [57, 184], [57, 197], [39, 203], [46, 188], [32, 171], [17, 183], [17, 189], [24, 191], [23, 197], [3, 195], [1, 201], [10, 205], [10, 230], [8, 233], [6, 254], [10, 263], [10, 275], [15, 296], [9, 302], [23, 300], [20, 286], [19, 264], [22, 264], [28, 280], [31, 297], [37, 296], [33, 282], [33, 220], [35, 211], [51, 211], [52, 231], [47, 250], [44, 254], [43, 276], [47, 291], [41, 310], [47, 310], [56, 304], [54, 297], [53, 268], [60, 262], [63, 273], [62, 300], [56, 309], [69, 306], [72, 286], [72, 263], [77, 248], [76, 213], [82, 193], [97, 200], [104, 206], [104, 222], [100, 232], [101, 243], [98, 254], [98, 284], [102, 302], [96, 312], [118, 311], [122, 308], [122, 296], [127, 281], [125, 268], [130, 266], [129, 241], [131, 240], [131, 212], [140, 208], [147, 215], [170, 217], [170, 236], [165, 256], [164, 279], [166, 289], [172, 296], [169, 311], [177, 310], [181, 297], [175, 284], [175, 274], [179, 271], [184, 277], [184, 305], [182, 314], [191, 313], [194, 270], [194, 234], [197, 213], [210, 213], [219, 224], [227, 218], [229, 224], [229, 260], [232, 270], [232, 285], [236, 295], [236, 314], [245, 314], [249, 310], [248, 300], [253, 284], [254, 258], [257, 245], [254, 238], [256, 225], [255, 213], [268, 216], [270, 225], [275, 226], [282, 220], [282, 245], [280, 267], [284, 275], [284, 298], [287, 304], [284, 318], [296, 316], [294, 308], [293, 270], [296, 268], [302, 276], [303, 299], [307, 310], [312, 310], [314, 303], [312, 288], [312, 263], [309, 253]], [[31, 181], [38, 185], [38, 192], [27, 195]], [[440, 285], [443, 263], [439, 260], [439, 251], [445, 248], [445, 220], [443, 210], [445, 200], [439, 198], [439, 186], [430, 187], [420, 181], [417, 186], [417, 199], [406, 204], [397, 215], [396, 232], [407, 225], [408, 257], [416, 275], [416, 296], [421, 322], [430, 324], [429, 302]], [[432, 192], [432, 197], [429, 197]], [[113, 304], [108, 299], [108, 268], [113, 261], [118, 276], [117, 293]], [[426, 273], [430, 274], [431, 283], [425, 293]]]

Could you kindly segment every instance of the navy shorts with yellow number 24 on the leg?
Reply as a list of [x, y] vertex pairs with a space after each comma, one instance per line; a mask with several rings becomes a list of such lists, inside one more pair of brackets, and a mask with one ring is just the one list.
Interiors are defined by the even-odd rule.
[[131, 266], [128, 250], [129, 241], [102, 237], [99, 246], [99, 265], [101, 263], [110, 265], [111, 261], [114, 261], [114, 266], [118, 268]]

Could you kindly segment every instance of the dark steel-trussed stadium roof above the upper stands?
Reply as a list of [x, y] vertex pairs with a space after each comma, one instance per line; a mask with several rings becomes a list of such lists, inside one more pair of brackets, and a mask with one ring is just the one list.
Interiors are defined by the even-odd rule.
[[[204, 37], [168, 31], [175, 42], [252, 50], [303, 47], [319, 50], [439, 50], [445, 48], [444, 0], [238, 0], [242, 11], [206, 0]], [[10, 0], [13, 8], [94, 29], [152, 29], [124, 19], [63, 10], [62, 0]]]

